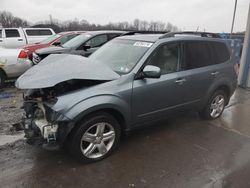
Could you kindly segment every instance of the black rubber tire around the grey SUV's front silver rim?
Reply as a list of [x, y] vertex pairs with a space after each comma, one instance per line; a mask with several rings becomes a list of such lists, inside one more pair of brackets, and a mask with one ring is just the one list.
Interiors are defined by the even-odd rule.
[[[108, 126], [112, 126], [112, 128], [113, 128], [112, 131], [114, 131], [114, 133], [115, 133], [114, 140], [112, 142], [112, 146], [110, 145], [110, 149], [108, 149], [107, 152], [105, 154], [103, 154], [103, 156], [100, 156], [97, 158], [89, 158], [86, 155], [84, 155], [83, 152], [85, 150], [82, 151], [81, 147], [82, 147], [84, 141], [81, 141], [81, 139], [87, 131], [89, 131], [89, 130], [91, 131], [91, 127], [93, 127], [96, 124], [101, 123], [101, 122], [108, 124]], [[77, 127], [78, 128], [73, 130], [72, 134], [70, 135], [70, 139], [68, 140], [69, 143], [67, 144], [67, 147], [68, 147], [70, 153], [83, 163], [96, 162], [96, 161], [100, 161], [100, 160], [108, 157], [119, 143], [120, 135], [121, 135], [120, 125], [119, 125], [118, 121], [108, 113], [93, 114], [90, 117], [87, 117], [83, 121], [79, 122]], [[96, 128], [96, 132], [97, 132], [97, 128]], [[103, 138], [104, 138], [104, 136], [103, 136]], [[91, 144], [91, 143], [89, 143], [89, 144]], [[98, 145], [98, 143], [96, 145]], [[101, 153], [97, 146], [96, 146], [95, 150], [97, 150], [96, 152]]]

